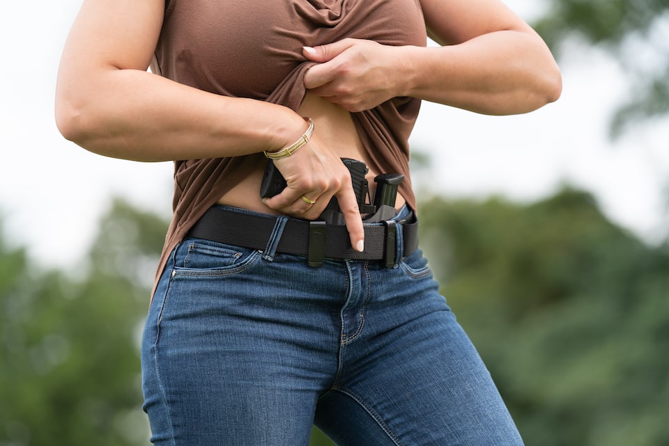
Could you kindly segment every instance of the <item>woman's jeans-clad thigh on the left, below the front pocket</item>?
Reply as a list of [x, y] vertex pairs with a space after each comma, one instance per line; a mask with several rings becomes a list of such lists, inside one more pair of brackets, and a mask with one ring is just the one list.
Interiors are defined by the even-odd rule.
[[176, 249], [143, 341], [156, 445], [309, 443], [316, 400], [336, 370], [338, 333], [322, 308], [331, 303], [298, 269], [207, 241]]

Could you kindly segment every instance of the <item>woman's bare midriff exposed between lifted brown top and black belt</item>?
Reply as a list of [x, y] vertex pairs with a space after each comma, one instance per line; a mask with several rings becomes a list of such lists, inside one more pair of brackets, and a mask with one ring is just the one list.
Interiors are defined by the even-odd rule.
[[[375, 172], [369, 167], [371, 164], [367, 152], [364, 150], [362, 141], [357, 134], [351, 114], [337, 104], [332, 104], [332, 102], [311, 93], [307, 93], [305, 96], [298, 113], [301, 116], [309, 116], [314, 120], [315, 132], [318, 132], [319, 139], [321, 141], [332, 141], [334, 145], [332, 148], [337, 151], [339, 157], [358, 159], [367, 164], [369, 168], [369, 173], [367, 173], [369, 195], [374, 197], [376, 186], [374, 177], [380, 172]], [[218, 203], [266, 214], [277, 214], [274, 209], [267, 207], [260, 198], [259, 191], [264, 170], [265, 166], [262, 164], [256, 168], [249, 168], [244, 180], [226, 192], [218, 200]], [[404, 198], [398, 193], [395, 208], [399, 209], [403, 205]]]

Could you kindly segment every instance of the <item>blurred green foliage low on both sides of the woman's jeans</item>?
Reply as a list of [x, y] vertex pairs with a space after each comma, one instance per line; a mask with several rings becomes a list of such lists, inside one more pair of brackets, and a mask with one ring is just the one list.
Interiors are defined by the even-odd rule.
[[[420, 217], [528, 446], [669, 445], [668, 245], [569, 189], [530, 205], [433, 198]], [[138, 344], [166, 225], [117, 201], [73, 272], [38, 271], [0, 239], [0, 445], [148, 444]]]

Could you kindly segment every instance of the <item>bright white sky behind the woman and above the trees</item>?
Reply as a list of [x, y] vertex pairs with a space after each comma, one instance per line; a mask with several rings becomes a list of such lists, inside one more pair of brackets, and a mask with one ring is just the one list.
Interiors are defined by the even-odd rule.
[[[0, 15], [0, 214], [7, 237], [46, 266], [73, 266], [112, 196], [169, 214], [171, 164], [106, 159], [65, 141], [53, 118], [56, 70], [82, 0], [11, 1]], [[525, 19], [537, 3], [509, 0]], [[665, 36], [669, 40], [669, 35]], [[580, 47], [562, 61], [560, 101], [489, 117], [424, 103], [411, 140], [431, 156], [417, 189], [536, 200], [561, 184], [592, 192], [614, 221], [648, 241], [669, 232], [669, 119], [613, 145], [607, 120], [626, 86], [607, 56]]]

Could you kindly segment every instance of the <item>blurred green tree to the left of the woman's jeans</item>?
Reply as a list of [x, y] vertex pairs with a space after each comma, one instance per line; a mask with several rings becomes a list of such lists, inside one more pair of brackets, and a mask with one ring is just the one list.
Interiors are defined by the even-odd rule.
[[0, 243], [0, 445], [148, 444], [137, 349], [148, 287], [137, 271], [166, 226], [116, 202], [78, 281]]

